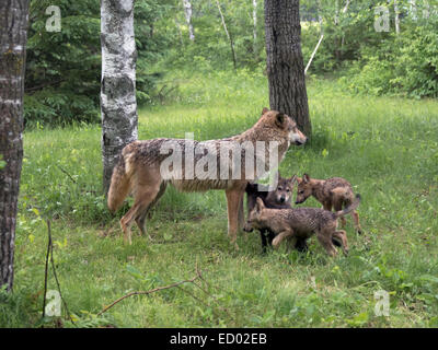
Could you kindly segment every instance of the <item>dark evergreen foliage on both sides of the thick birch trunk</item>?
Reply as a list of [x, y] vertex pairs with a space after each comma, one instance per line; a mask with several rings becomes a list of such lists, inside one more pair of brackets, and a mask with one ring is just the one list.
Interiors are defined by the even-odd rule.
[[[47, 32], [49, 5], [61, 11], [61, 31]], [[154, 63], [169, 45], [165, 31], [153, 31], [168, 11], [165, 2], [137, 1], [135, 31], [138, 48], [139, 105], [154, 96], [162, 73]], [[24, 118], [27, 126], [100, 121], [100, 2], [95, 0], [32, 0], [26, 61]]]

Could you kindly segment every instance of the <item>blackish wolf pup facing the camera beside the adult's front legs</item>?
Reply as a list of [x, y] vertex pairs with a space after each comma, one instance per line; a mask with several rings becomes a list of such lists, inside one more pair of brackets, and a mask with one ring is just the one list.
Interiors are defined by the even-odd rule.
[[[251, 183], [246, 185], [245, 192], [249, 215], [254, 209], [257, 198], [261, 198], [265, 207], [269, 209], [292, 208], [291, 200], [297, 176], [293, 175], [291, 178], [283, 178], [280, 173], [278, 172], [277, 177], [277, 187], [270, 191], [268, 190], [268, 186], [266, 185]], [[275, 234], [269, 229], [262, 229], [260, 230], [260, 233], [262, 238], [262, 252], [266, 253], [266, 246], [268, 243], [269, 245], [272, 245]], [[296, 248], [299, 252], [306, 252], [308, 248], [306, 241], [298, 240]]]

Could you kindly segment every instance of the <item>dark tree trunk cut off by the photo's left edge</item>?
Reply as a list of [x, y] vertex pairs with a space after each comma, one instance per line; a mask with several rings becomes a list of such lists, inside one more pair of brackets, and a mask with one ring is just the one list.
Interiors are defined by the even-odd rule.
[[0, 2], [0, 288], [13, 283], [28, 0]]

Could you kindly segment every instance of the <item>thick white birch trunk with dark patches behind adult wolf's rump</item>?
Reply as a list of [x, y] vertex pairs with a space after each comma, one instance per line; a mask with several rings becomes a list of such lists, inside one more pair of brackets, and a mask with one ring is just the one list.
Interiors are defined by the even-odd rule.
[[134, 0], [101, 1], [102, 159], [106, 195], [122, 149], [137, 140]]

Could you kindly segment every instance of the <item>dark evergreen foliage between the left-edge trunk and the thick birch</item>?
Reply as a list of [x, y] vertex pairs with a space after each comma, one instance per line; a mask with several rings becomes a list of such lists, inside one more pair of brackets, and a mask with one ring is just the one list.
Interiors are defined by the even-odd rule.
[[[61, 11], [61, 31], [45, 30], [46, 8]], [[100, 5], [93, 0], [31, 2], [24, 118], [28, 125], [96, 122]]]

